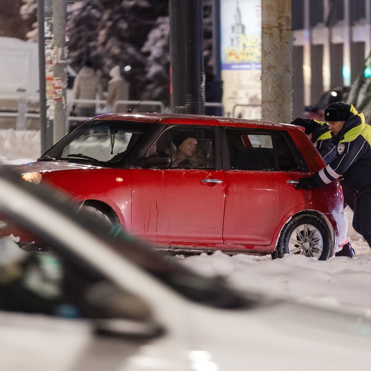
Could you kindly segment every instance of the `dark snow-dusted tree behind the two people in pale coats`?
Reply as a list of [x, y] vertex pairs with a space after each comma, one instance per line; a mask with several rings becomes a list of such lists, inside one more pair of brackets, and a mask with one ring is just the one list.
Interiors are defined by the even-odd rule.
[[83, 0], [68, 22], [71, 65], [78, 69], [90, 58], [106, 80], [109, 70], [119, 65], [127, 71], [131, 97], [142, 98], [145, 57], [141, 47], [164, 12], [167, 0]]

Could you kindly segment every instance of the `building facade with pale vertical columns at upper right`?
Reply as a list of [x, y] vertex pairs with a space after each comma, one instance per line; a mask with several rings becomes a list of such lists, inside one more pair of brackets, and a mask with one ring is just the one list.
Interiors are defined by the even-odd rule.
[[292, 0], [293, 117], [350, 86], [371, 52], [371, 0]]

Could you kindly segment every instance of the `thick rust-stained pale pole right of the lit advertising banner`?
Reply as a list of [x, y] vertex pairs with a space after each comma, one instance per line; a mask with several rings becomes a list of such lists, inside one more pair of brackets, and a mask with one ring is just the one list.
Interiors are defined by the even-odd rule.
[[262, 0], [262, 119], [292, 120], [291, 0]]

